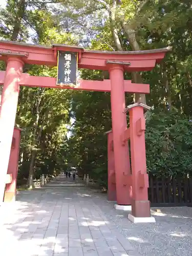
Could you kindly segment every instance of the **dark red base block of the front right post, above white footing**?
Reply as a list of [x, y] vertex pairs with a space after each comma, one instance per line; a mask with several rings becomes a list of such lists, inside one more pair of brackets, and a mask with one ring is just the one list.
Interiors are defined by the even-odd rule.
[[151, 217], [150, 201], [132, 201], [132, 215], [136, 218]]

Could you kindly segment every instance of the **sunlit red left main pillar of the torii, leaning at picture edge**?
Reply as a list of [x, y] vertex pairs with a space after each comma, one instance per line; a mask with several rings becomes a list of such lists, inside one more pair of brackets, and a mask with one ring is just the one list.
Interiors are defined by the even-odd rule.
[[7, 57], [7, 68], [0, 109], [0, 204], [4, 199], [6, 175], [17, 111], [19, 81], [23, 65], [24, 63], [19, 57]]

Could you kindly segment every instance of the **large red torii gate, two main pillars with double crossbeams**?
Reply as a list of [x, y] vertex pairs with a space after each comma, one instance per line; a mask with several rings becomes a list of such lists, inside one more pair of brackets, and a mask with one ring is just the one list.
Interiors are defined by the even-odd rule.
[[[150, 89], [148, 84], [134, 84], [129, 80], [124, 80], [123, 73], [124, 71], [150, 71], [169, 50], [162, 48], [130, 52], [90, 51], [76, 46], [52, 45], [47, 47], [0, 41], [0, 60], [7, 63], [6, 72], [0, 72], [0, 83], [4, 84], [0, 109], [0, 202], [3, 201], [5, 189], [19, 86], [29, 86], [111, 92], [117, 203], [119, 205], [131, 205], [131, 182], [127, 185], [123, 184], [123, 177], [131, 175], [128, 143], [123, 144], [121, 142], [122, 134], [127, 129], [124, 92], [145, 94], [149, 93]], [[76, 52], [78, 54], [78, 68], [108, 70], [110, 80], [80, 80], [79, 84], [73, 88], [70, 86], [59, 87], [56, 86], [56, 78], [36, 77], [22, 73], [24, 63], [57, 66], [58, 51]], [[149, 204], [147, 207], [150, 207]]]

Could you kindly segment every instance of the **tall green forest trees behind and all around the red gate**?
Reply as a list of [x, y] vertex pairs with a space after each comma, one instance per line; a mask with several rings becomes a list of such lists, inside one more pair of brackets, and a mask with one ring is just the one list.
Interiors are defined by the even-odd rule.
[[[192, 8], [189, 0], [7, 0], [0, 9], [1, 39], [92, 50], [132, 51], [172, 46], [151, 72], [124, 79], [150, 83], [149, 95], [125, 94], [152, 106], [146, 116], [147, 170], [155, 176], [191, 172]], [[5, 64], [1, 63], [1, 70]], [[108, 72], [79, 70], [81, 79]], [[56, 67], [25, 65], [25, 73], [56, 77]], [[129, 117], [127, 117], [129, 124]], [[69, 166], [106, 183], [110, 94], [20, 88], [16, 124], [23, 129], [18, 184], [29, 175]]]

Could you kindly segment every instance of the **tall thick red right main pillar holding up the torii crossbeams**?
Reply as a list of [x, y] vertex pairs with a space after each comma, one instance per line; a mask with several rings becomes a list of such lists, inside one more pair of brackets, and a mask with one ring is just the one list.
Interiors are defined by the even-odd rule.
[[121, 141], [121, 136], [127, 128], [126, 115], [123, 113], [125, 109], [123, 67], [117, 64], [110, 65], [109, 72], [117, 204], [130, 205], [130, 187], [123, 184], [123, 175], [131, 174], [128, 143], [123, 145]]

